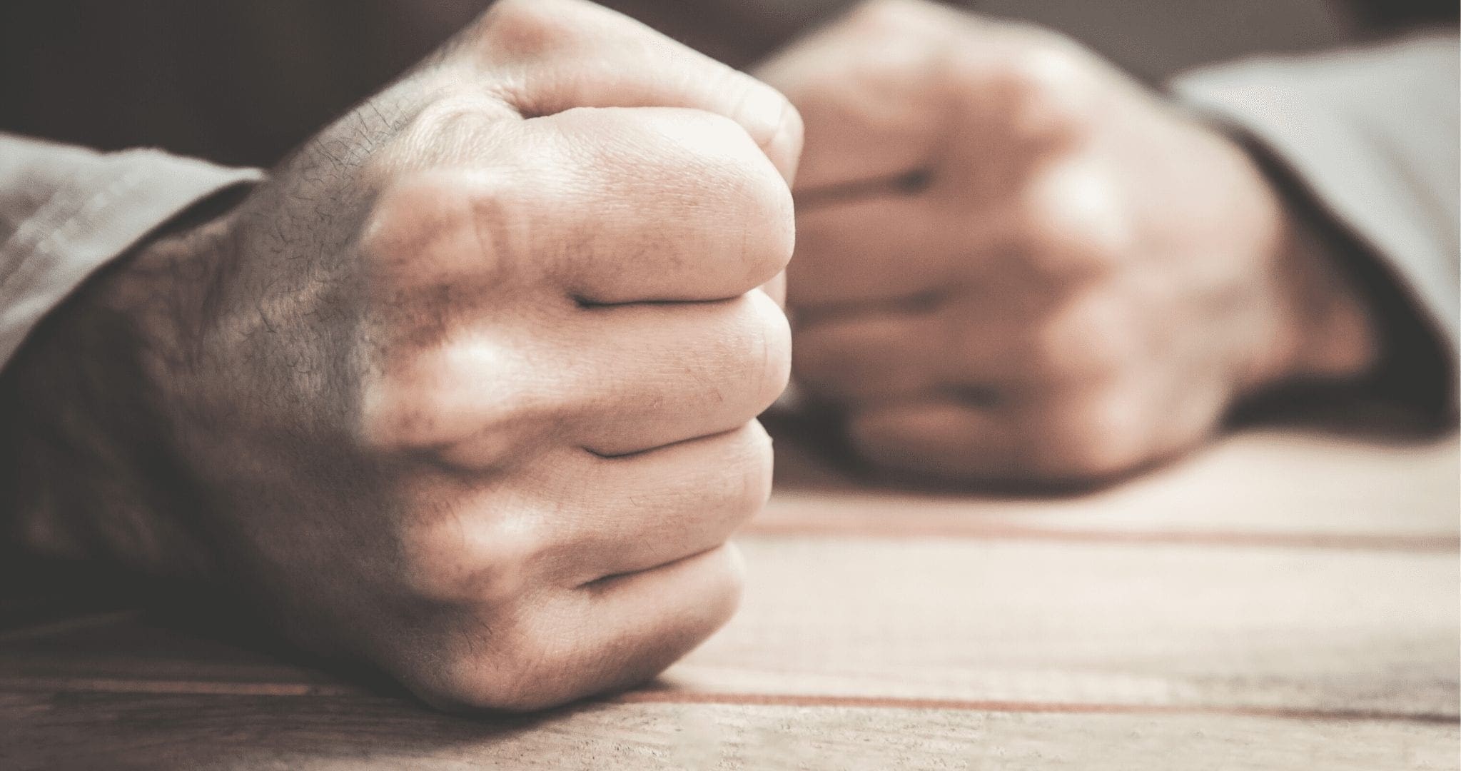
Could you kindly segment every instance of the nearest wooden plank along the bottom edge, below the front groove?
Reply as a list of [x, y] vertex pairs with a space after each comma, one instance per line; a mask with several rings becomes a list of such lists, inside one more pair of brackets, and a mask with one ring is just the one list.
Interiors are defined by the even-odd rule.
[[380, 698], [0, 695], [13, 771], [1457, 768], [1446, 723], [589, 704], [449, 717]]

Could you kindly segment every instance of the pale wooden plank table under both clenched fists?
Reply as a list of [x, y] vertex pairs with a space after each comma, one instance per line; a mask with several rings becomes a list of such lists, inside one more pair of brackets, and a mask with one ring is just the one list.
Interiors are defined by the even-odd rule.
[[1255, 429], [1053, 501], [783, 457], [741, 613], [643, 689], [440, 716], [92, 603], [0, 632], [0, 768], [1458, 768], [1455, 438]]

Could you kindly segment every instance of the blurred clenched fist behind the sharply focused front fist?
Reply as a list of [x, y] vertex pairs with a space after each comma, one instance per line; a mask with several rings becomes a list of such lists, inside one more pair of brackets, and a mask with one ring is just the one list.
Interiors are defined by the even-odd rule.
[[1105, 480], [1375, 361], [1251, 158], [1072, 41], [874, 1], [758, 74], [806, 121], [795, 377], [878, 467]]

